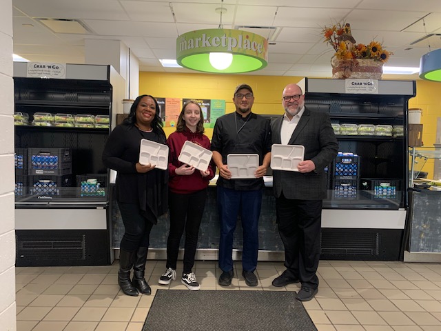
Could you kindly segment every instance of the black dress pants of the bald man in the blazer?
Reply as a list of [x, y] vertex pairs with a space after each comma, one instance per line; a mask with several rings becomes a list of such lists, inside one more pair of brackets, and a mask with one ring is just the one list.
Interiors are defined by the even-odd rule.
[[278, 232], [285, 246], [285, 267], [302, 285], [318, 287], [322, 200], [276, 198]]

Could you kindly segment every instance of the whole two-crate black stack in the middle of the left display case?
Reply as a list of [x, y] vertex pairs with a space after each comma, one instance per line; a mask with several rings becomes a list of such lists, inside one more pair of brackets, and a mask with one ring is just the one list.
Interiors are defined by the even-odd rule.
[[72, 186], [71, 150], [28, 148], [28, 174], [30, 194], [33, 196], [62, 195], [63, 188]]

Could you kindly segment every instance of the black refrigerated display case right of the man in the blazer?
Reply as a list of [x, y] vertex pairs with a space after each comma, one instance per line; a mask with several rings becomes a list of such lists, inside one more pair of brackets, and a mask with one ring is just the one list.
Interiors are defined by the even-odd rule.
[[[376, 88], [354, 93], [347, 85], [353, 81], [300, 82], [305, 106], [329, 113], [340, 130], [342, 154], [328, 167], [322, 258], [398, 260], [407, 213], [408, 101], [416, 96], [416, 82], [362, 80]], [[357, 172], [339, 173], [339, 167]]]

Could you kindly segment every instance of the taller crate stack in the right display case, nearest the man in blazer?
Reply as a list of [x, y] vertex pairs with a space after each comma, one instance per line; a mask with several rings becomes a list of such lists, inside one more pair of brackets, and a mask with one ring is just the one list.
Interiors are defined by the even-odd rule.
[[338, 152], [332, 163], [332, 185], [334, 198], [357, 198], [360, 181], [360, 157], [349, 152]]

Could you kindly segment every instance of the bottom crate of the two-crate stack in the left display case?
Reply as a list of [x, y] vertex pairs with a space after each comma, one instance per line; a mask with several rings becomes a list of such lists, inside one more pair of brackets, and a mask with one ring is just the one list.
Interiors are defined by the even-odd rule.
[[53, 195], [59, 196], [63, 194], [63, 188], [72, 186], [72, 175], [64, 174], [62, 176], [54, 176], [50, 174], [37, 174], [28, 176], [28, 184], [30, 194]]

